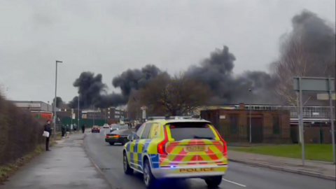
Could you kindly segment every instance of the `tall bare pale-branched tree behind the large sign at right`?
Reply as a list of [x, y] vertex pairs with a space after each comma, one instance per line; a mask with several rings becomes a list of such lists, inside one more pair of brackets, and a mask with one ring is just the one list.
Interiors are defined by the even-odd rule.
[[[286, 104], [295, 107], [297, 115], [300, 113], [299, 95], [293, 91], [293, 77], [328, 77], [335, 78], [335, 52], [334, 47], [330, 47], [321, 53], [311, 50], [309, 39], [304, 34], [291, 34], [286, 37], [281, 45], [281, 52], [277, 62], [272, 64], [274, 76], [279, 81], [276, 83], [275, 92], [278, 97], [283, 99]], [[332, 70], [330, 70], [332, 69]], [[313, 94], [314, 96], [316, 94]], [[306, 104], [313, 95], [302, 95], [302, 103]], [[300, 119], [300, 118], [299, 118]], [[300, 141], [303, 136], [300, 132]]]

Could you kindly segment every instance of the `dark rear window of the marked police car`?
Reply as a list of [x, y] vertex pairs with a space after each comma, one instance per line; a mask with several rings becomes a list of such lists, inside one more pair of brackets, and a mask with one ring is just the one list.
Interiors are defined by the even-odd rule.
[[169, 127], [175, 141], [184, 139], [214, 140], [216, 135], [207, 125], [207, 123], [171, 123]]

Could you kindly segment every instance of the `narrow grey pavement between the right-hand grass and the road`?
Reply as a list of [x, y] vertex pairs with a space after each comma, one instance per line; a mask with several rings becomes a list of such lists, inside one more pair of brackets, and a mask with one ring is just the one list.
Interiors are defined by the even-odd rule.
[[335, 181], [336, 166], [333, 165], [332, 162], [305, 160], [304, 166], [302, 166], [302, 160], [300, 159], [281, 158], [271, 155], [260, 155], [237, 151], [228, 151], [228, 158], [233, 162], [267, 167], [270, 169], [281, 170], [283, 172], [293, 172], [307, 176], [316, 176]]

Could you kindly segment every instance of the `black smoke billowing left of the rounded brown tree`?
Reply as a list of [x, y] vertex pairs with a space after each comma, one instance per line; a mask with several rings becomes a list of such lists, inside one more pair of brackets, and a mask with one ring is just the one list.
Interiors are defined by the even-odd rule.
[[[97, 74], [86, 71], [80, 73], [79, 78], [73, 83], [73, 87], [78, 87], [79, 105], [81, 109], [87, 109], [91, 106], [97, 108], [107, 108], [111, 106], [125, 105], [132, 90], [139, 90], [146, 86], [148, 80], [155, 78], [159, 73], [162, 73], [155, 65], [146, 65], [140, 69], [128, 69], [113, 78], [112, 84], [114, 87], [120, 87], [121, 94], [107, 93], [107, 85], [102, 82], [102, 74]], [[74, 97], [69, 102], [71, 109], [78, 107], [78, 97]]]

